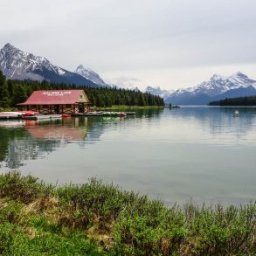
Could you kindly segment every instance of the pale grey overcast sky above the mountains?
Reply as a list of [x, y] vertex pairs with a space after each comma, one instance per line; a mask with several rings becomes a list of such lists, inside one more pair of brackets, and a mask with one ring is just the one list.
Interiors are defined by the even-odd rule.
[[120, 86], [256, 80], [255, 0], [0, 0], [0, 45]]

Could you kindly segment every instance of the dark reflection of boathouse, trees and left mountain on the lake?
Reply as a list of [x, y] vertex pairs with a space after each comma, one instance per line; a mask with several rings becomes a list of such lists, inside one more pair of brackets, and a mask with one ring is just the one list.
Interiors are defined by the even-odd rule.
[[[136, 117], [159, 115], [163, 109], [142, 109]], [[0, 128], [0, 162], [17, 169], [30, 159], [44, 158], [52, 151], [76, 142], [81, 148], [100, 140], [105, 128], [113, 123], [133, 121], [119, 117], [76, 117], [55, 121], [27, 121], [18, 128]]]

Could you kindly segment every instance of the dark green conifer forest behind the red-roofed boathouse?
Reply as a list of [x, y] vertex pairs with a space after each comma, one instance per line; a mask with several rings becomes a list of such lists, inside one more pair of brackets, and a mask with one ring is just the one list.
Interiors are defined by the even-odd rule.
[[0, 107], [16, 107], [17, 103], [28, 99], [33, 91], [38, 90], [66, 90], [83, 89], [96, 107], [111, 107], [113, 105], [127, 106], [163, 106], [163, 98], [150, 93], [140, 91], [112, 88], [112, 87], [90, 87], [66, 84], [49, 83], [32, 80], [6, 80], [0, 71]]

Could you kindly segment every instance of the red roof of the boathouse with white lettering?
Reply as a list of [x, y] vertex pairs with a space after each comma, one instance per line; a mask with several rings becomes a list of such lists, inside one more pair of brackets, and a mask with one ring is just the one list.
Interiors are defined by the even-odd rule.
[[28, 100], [17, 105], [62, 105], [76, 102], [89, 102], [83, 90], [35, 91]]

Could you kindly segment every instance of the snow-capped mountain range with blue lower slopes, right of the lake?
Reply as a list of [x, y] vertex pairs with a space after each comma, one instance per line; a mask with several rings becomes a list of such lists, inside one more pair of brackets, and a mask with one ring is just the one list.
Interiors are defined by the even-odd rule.
[[[162, 91], [159, 87], [155, 89], [156, 95], [163, 95], [164, 93], [168, 95], [170, 93]], [[251, 95], [256, 95], [256, 80], [238, 72], [230, 77], [214, 74], [209, 81], [204, 81], [198, 86], [178, 89], [170, 93], [164, 97], [164, 102], [166, 104], [206, 105], [214, 100]]]

